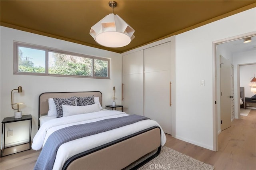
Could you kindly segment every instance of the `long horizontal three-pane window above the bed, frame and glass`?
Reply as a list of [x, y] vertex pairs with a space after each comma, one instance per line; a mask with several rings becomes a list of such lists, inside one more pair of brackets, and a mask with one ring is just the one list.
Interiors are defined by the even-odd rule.
[[110, 60], [14, 42], [14, 74], [109, 79]]

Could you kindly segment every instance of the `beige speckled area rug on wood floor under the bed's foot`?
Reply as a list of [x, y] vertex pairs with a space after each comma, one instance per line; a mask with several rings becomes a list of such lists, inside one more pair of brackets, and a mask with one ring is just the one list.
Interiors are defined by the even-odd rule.
[[[154, 152], [155, 153], [155, 152]], [[153, 153], [153, 154], [154, 154]], [[152, 153], [140, 158], [137, 162], [131, 164], [125, 169], [130, 169], [134, 167], [138, 162], [142, 162], [148, 158]], [[166, 146], [162, 147], [160, 154], [150, 160], [138, 170], [214, 170], [214, 166], [191, 158], [185, 154], [182, 154], [176, 150], [168, 148]]]

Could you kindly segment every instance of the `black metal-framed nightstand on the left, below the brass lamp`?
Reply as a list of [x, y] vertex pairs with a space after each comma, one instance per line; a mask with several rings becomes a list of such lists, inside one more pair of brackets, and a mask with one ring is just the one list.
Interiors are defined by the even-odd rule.
[[[5, 154], [4, 149], [9, 149], [9, 148], [18, 146], [18, 145], [16, 145], [16, 146], [10, 146], [10, 147], [5, 148], [5, 124], [6, 123], [19, 122], [19, 121], [29, 121], [29, 142], [25, 143], [25, 144], [29, 144], [29, 147], [18, 147], [18, 149], [14, 148], [13, 149], [14, 153]], [[25, 150], [30, 150], [31, 149], [31, 131], [32, 131], [32, 115], [22, 115], [22, 118], [18, 118], [18, 119], [14, 119], [14, 117], [4, 118], [4, 120], [2, 121], [2, 141], [4, 140], [4, 147], [2, 147], [3, 142], [1, 141], [1, 157], [2, 156], [7, 156], [7, 155], [10, 155], [10, 154], [15, 154], [15, 153], [18, 153], [18, 152], [22, 152], [22, 151], [25, 151]], [[23, 144], [20, 144], [20, 145], [23, 145]]]

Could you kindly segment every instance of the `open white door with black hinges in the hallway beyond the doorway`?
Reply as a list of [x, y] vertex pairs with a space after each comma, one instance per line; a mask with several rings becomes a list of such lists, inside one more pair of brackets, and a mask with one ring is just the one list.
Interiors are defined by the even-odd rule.
[[231, 126], [231, 63], [220, 55], [220, 129]]

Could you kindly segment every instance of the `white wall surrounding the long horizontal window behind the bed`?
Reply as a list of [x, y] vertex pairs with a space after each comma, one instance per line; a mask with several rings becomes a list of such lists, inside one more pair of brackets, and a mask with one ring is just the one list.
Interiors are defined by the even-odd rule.
[[[122, 55], [102, 49], [96, 49], [85, 45], [66, 42], [46, 36], [40, 36], [20, 30], [2, 27], [1, 30], [1, 59], [0, 59], [0, 116], [1, 121], [4, 117], [14, 116], [14, 110], [11, 108], [11, 90], [22, 86], [23, 93], [14, 93], [14, 102], [24, 102], [20, 110], [23, 115], [31, 114], [32, 138], [38, 130], [38, 97], [44, 92], [56, 91], [101, 91], [103, 104], [112, 103], [113, 86], [116, 87], [116, 104], [121, 104], [121, 85], [122, 85]], [[74, 77], [47, 77], [35, 75], [14, 75], [13, 74], [13, 41], [43, 45], [64, 51], [93, 55], [98, 57], [110, 58], [110, 79], [91, 79]], [[6, 138], [6, 144], [16, 144], [17, 141], [28, 140], [28, 123], [6, 124], [7, 130], [13, 129], [13, 136]], [[22, 134], [21, 136], [20, 133]]]

